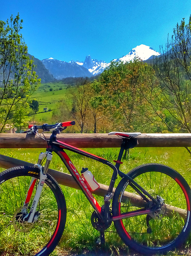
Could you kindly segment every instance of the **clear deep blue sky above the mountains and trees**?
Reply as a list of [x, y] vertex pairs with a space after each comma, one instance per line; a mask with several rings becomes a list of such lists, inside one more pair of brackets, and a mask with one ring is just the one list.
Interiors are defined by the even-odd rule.
[[38, 59], [107, 62], [140, 44], [159, 51], [177, 22], [191, 14], [184, 0], [0, 0], [0, 20], [19, 12], [28, 52]]

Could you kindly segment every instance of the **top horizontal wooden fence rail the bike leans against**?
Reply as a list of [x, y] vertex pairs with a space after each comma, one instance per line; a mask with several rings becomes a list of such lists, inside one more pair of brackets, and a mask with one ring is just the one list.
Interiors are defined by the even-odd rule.
[[[50, 138], [50, 133], [45, 137]], [[62, 133], [57, 135], [63, 141], [79, 148], [120, 147], [121, 138], [107, 133]], [[191, 133], [142, 133], [137, 137], [138, 147], [191, 147]], [[32, 134], [1, 133], [0, 148], [44, 148], [47, 142]]]

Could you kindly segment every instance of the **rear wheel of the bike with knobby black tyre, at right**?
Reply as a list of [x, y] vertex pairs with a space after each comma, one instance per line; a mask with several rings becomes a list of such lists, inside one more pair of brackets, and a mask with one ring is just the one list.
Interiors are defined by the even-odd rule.
[[[162, 164], [141, 165], [132, 169], [128, 176], [154, 198], [158, 195], [165, 199], [165, 204], [161, 207], [159, 216], [153, 213], [115, 220], [114, 225], [120, 238], [130, 248], [145, 255], [165, 254], [178, 248], [186, 241], [191, 230], [191, 190], [188, 183], [177, 171]], [[134, 199], [125, 198], [125, 191], [132, 193]], [[136, 201], [137, 199], [138, 193], [123, 178], [114, 193], [113, 217], [144, 208], [144, 205], [141, 206], [144, 201]], [[183, 211], [177, 212], [178, 209], [170, 208], [170, 205]]]

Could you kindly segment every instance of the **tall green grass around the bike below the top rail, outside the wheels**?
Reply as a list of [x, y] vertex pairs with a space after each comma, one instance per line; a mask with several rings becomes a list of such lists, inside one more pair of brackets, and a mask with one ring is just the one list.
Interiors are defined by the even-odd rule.
[[[111, 162], [117, 159], [119, 152], [119, 149], [116, 148], [85, 150], [106, 158]], [[32, 163], [37, 162], [40, 152], [43, 152], [43, 149], [0, 150], [0, 154], [5, 154]], [[109, 184], [112, 172], [108, 166], [81, 155], [76, 155], [72, 152], [68, 152], [68, 155], [78, 171], [80, 171], [82, 167], [88, 167], [99, 183]], [[144, 163], [162, 163], [168, 165], [181, 173], [191, 185], [191, 158], [185, 148], [134, 148], [130, 150], [130, 156], [127, 159], [123, 159], [123, 164], [120, 169], [127, 173], [132, 168]], [[68, 172], [66, 167], [63, 166], [62, 161], [55, 154], [53, 155], [50, 168]], [[116, 184], [119, 183], [119, 181], [120, 177], [117, 179]], [[62, 253], [71, 250], [78, 252], [82, 252], [86, 249], [95, 251], [97, 248], [95, 241], [99, 236], [99, 232], [91, 225], [90, 218], [91, 213], [93, 212], [91, 205], [81, 191], [66, 186], [61, 187], [67, 204], [67, 221], [62, 239], [52, 255], [62, 255]], [[95, 196], [95, 198], [101, 205], [103, 204], [103, 197]], [[106, 245], [104, 246], [104, 249], [107, 251], [108, 255], [128, 255], [131, 253], [116, 234], [113, 223], [108, 231], [105, 232], [105, 238]], [[190, 245], [191, 236], [183, 248], [189, 248]], [[183, 249], [181, 250], [181, 255], [183, 255], [182, 253], [184, 254]], [[180, 255], [180, 251], [174, 253], [170, 252], [167, 255]]]

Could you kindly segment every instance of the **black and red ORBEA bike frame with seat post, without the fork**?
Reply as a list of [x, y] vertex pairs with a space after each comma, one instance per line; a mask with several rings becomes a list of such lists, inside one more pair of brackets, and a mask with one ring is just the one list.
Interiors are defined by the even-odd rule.
[[[122, 159], [124, 150], [131, 147], [131, 144], [132, 144], [131, 142], [132, 142], [132, 140], [136, 140], [135, 138], [123, 138], [123, 142], [121, 144], [118, 159], [115, 161], [116, 164], [114, 165], [104, 158], [101, 158], [94, 154], [88, 153], [84, 150], [80, 150], [74, 146], [68, 145], [67, 143], [57, 140], [56, 134], [57, 134], [56, 131], [53, 131], [52, 135], [50, 137], [50, 140], [47, 141], [47, 143], [48, 143], [47, 151], [49, 151], [50, 153], [55, 152], [56, 154], [59, 155], [59, 157], [63, 161], [64, 165], [67, 167], [68, 171], [71, 173], [71, 175], [73, 176], [73, 178], [75, 179], [75, 181], [77, 182], [77, 184], [79, 185], [81, 190], [83, 191], [84, 195], [87, 197], [91, 206], [94, 208], [95, 212], [97, 213], [97, 215], [100, 217], [100, 219], [102, 221], [108, 222], [109, 220], [111, 221], [111, 220], [117, 220], [117, 219], [124, 219], [124, 218], [128, 218], [128, 217], [136, 216], [136, 215], [144, 215], [144, 214], [153, 212], [153, 210], [151, 210], [151, 209], [148, 210], [148, 208], [147, 209], [143, 208], [140, 210], [123, 213], [120, 216], [115, 216], [113, 218], [110, 217], [110, 214], [109, 214], [110, 199], [112, 198], [111, 195], [112, 195], [114, 184], [115, 184], [118, 174], [121, 178], [127, 179], [128, 184], [133, 189], [135, 189], [135, 191], [143, 198], [144, 201], [146, 201], [145, 203], [149, 204], [152, 201], [152, 202], [154, 202], [155, 210], [157, 208], [159, 208], [159, 210], [160, 210], [160, 204], [158, 201], [156, 201], [155, 198], [153, 198], [147, 191], [145, 191], [131, 177], [129, 177], [128, 175], [124, 174], [123, 172], [121, 172], [119, 170], [120, 164], [122, 163], [121, 159]], [[98, 204], [96, 199], [93, 197], [90, 187], [88, 186], [88, 184], [86, 182], [84, 182], [82, 176], [79, 174], [79, 172], [75, 168], [74, 164], [72, 163], [71, 159], [69, 158], [69, 156], [67, 155], [67, 153], [64, 150], [69, 150], [74, 153], [81, 154], [85, 157], [88, 157], [93, 160], [99, 161], [103, 164], [106, 164], [113, 169], [113, 174], [112, 174], [112, 178], [111, 178], [111, 181], [109, 184], [108, 192], [104, 197], [104, 215], [102, 213], [102, 207]], [[109, 198], [109, 200], [108, 200], [108, 198]]]

